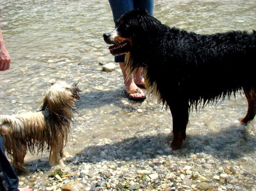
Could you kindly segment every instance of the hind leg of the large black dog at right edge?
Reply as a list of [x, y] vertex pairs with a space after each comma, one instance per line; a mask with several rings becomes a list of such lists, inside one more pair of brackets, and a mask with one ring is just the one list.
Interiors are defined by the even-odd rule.
[[240, 120], [241, 123], [247, 123], [256, 115], [256, 87], [243, 88], [245, 97], [248, 101], [248, 111], [246, 116]]

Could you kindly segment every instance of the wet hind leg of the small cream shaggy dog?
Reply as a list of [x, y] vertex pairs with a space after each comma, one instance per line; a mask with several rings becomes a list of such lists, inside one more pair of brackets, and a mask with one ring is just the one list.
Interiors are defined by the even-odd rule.
[[21, 145], [20, 148], [13, 149], [12, 165], [16, 170], [26, 172], [24, 165], [24, 158], [27, 153], [26, 145]]

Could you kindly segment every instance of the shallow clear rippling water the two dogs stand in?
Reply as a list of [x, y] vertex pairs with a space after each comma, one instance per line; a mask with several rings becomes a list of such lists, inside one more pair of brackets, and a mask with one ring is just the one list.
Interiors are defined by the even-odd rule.
[[[155, 0], [154, 6], [154, 16], [162, 23], [200, 34], [251, 31], [256, 29], [255, 12], [254, 0]], [[107, 0], [3, 0], [0, 27], [12, 57], [11, 69], [0, 73], [0, 114], [38, 109], [51, 79], [79, 81], [81, 101], [66, 147], [69, 154], [86, 155], [93, 145], [113, 143], [137, 150], [134, 139], [153, 140], [154, 149], [168, 147], [170, 111], [154, 99], [128, 101], [119, 67], [108, 73], [99, 64], [113, 61], [102, 39], [113, 28]], [[246, 111], [247, 101], [239, 95], [193, 112], [180, 156], [207, 153], [215, 156], [212, 168], [225, 159], [255, 176], [256, 123], [238, 123]], [[28, 155], [26, 161], [38, 158]]]

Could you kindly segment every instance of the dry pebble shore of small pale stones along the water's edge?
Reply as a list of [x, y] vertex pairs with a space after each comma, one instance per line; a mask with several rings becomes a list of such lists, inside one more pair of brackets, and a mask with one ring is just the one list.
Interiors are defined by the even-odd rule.
[[146, 157], [150, 153], [143, 151], [124, 160], [108, 160], [107, 149], [106, 152], [101, 151], [100, 156], [93, 155], [92, 159], [79, 155], [67, 158], [67, 167], [49, 170], [47, 175], [51, 177], [47, 181], [41, 180], [46, 175], [43, 171], [22, 177], [20, 186], [32, 185], [34, 191], [255, 190], [256, 176], [250, 176], [229, 160], [218, 166], [208, 154], [179, 157], [178, 151], [165, 155], [164, 151], [158, 150], [158, 154], [150, 159]]

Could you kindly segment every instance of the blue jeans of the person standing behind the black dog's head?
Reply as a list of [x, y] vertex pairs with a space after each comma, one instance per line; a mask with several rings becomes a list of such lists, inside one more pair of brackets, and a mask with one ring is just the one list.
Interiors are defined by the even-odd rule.
[[[148, 14], [153, 15], [154, 0], [108, 0], [113, 13], [114, 23], [116, 25], [117, 20], [125, 14], [127, 11], [133, 9], [146, 9]], [[115, 57], [116, 63], [124, 63], [125, 55]]]

